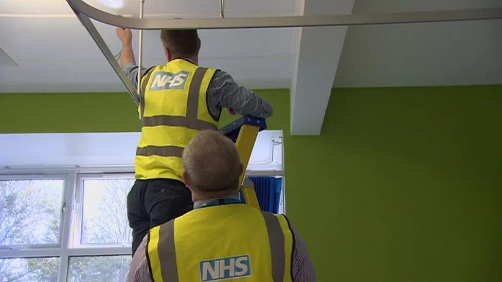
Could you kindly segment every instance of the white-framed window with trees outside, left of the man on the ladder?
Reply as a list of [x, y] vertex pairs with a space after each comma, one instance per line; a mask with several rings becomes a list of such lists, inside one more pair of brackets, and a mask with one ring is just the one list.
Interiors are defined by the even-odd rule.
[[100, 170], [0, 175], [0, 281], [126, 279], [133, 169]]

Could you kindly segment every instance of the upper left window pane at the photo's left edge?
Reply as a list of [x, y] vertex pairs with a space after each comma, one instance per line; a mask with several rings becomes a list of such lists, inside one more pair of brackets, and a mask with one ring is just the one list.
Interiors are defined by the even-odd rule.
[[57, 243], [64, 180], [0, 181], [0, 245]]

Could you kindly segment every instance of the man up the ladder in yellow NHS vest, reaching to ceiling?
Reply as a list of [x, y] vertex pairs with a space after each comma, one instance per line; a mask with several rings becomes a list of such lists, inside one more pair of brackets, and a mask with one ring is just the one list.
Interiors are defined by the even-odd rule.
[[[132, 33], [123, 28], [116, 32], [122, 41], [119, 63], [137, 87]], [[150, 228], [192, 210], [181, 160], [190, 140], [201, 130], [217, 130], [222, 108], [230, 114], [272, 115], [265, 99], [238, 86], [228, 73], [198, 66], [201, 41], [196, 30], [162, 30], [160, 40], [168, 63], [141, 70], [141, 139], [136, 182], [127, 197], [133, 254]]]

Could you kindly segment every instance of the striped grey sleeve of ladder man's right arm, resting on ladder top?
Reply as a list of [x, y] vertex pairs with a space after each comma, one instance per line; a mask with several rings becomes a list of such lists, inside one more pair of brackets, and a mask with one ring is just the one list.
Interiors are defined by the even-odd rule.
[[207, 88], [207, 106], [211, 116], [219, 120], [222, 108], [231, 108], [240, 115], [260, 118], [272, 116], [272, 106], [265, 98], [239, 86], [225, 71], [217, 70]]

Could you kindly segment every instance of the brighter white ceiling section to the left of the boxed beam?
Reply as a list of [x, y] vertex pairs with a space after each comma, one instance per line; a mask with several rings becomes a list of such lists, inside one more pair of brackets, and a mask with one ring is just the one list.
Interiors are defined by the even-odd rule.
[[[159, 3], [166, 2], [173, 5], [157, 9], [164, 7]], [[123, 9], [115, 12], [137, 11], [130, 3], [138, 2], [127, 1]], [[180, 16], [190, 7], [190, 16], [215, 17], [218, 3], [146, 0], [145, 16]], [[227, 1], [225, 8], [227, 16], [270, 16], [293, 15], [295, 5], [289, 0]], [[171, 13], [167, 14], [168, 10]], [[96, 25], [112, 52], [118, 52], [121, 45], [115, 28]], [[1, 1], [0, 27], [0, 46], [19, 63], [19, 67], [0, 67], [0, 92], [124, 91], [119, 78], [65, 1]], [[200, 37], [201, 65], [224, 69], [244, 86], [288, 87], [293, 29], [205, 30], [200, 31]], [[133, 44], [137, 49], [137, 42]], [[145, 65], [165, 63], [158, 31], [145, 32], [144, 54]]]

